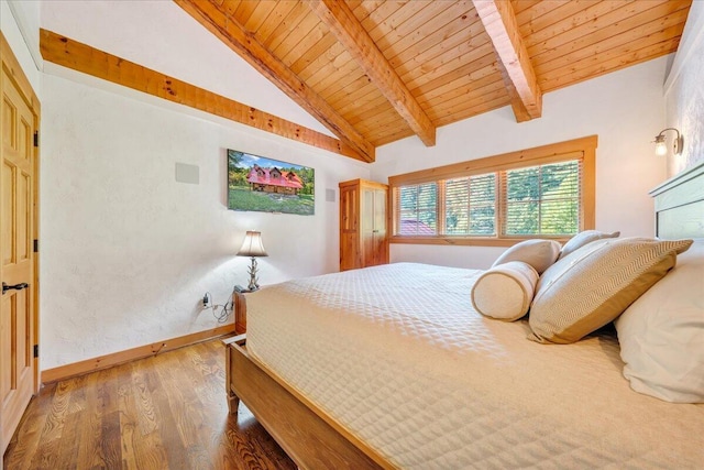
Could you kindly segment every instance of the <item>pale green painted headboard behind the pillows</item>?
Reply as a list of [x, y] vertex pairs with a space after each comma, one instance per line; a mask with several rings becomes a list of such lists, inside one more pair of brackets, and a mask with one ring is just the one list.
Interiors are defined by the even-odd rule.
[[656, 234], [704, 238], [704, 162], [650, 192], [656, 199]]

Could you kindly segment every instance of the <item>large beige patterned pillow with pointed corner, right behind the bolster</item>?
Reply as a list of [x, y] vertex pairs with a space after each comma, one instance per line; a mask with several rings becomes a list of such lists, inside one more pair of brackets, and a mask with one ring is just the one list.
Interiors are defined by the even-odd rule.
[[548, 269], [530, 307], [530, 339], [568, 343], [618, 317], [664, 276], [692, 240], [604, 239]]

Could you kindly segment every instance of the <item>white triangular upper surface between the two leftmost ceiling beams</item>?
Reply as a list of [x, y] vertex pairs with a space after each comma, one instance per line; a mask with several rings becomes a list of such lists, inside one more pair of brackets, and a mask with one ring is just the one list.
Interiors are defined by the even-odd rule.
[[332, 135], [173, 1], [41, 3], [46, 30]]

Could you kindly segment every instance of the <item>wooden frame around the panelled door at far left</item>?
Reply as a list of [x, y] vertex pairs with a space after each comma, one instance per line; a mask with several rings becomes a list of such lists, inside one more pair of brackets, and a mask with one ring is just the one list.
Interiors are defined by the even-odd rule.
[[[16, 88], [22, 94], [22, 97], [30, 106], [32, 110], [32, 116], [34, 118], [34, 131], [37, 132], [40, 129], [40, 117], [41, 117], [41, 103], [40, 100], [32, 88], [32, 84], [29, 78], [22, 70], [22, 66], [20, 62], [15, 57], [10, 44], [6, 40], [4, 35], [0, 31], [0, 57], [1, 64], [0, 66], [7, 68], [9, 70], [8, 75], [14, 80]], [[34, 145], [34, 178], [33, 178], [33, 190], [32, 196], [33, 208], [32, 208], [32, 223], [33, 223], [33, 238], [34, 238], [34, 254], [33, 254], [33, 269], [34, 269], [34, 277], [33, 282], [33, 303], [34, 303], [34, 330], [32, 331], [32, 343], [35, 348], [38, 348], [40, 345], [40, 256], [36, 250], [38, 240], [40, 240], [40, 146]], [[34, 357], [34, 394], [36, 394], [40, 390], [41, 385], [41, 374], [40, 374], [40, 358], [38, 354]]]

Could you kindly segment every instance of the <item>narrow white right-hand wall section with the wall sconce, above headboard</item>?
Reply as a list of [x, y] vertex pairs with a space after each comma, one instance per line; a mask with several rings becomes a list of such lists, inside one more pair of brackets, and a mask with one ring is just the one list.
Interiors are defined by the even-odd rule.
[[[704, 2], [692, 3], [680, 47], [664, 85], [666, 127], [684, 135], [681, 155], [668, 153], [668, 175], [704, 162]], [[668, 147], [674, 138], [668, 132]]]

